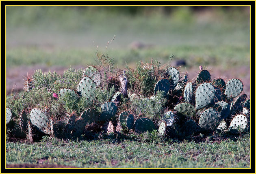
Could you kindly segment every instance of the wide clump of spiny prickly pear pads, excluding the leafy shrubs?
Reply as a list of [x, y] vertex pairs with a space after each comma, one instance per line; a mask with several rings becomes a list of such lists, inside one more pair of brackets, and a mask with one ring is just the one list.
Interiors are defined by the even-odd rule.
[[[152, 68], [146, 70], [152, 71]], [[129, 79], [129, 73], [127, 74]], [[127, 87], [124, 86], [126, 83], [123, 83], [121, 87], [117, 85], [117, 80], [113, 96], [99, 102], [99, 91], [109, 90], [110, 80], [102, 81], [102, 74], [97, 67], [89, 66], [80, 76], [76, 89], [62, 87], [53, 93], [51, 107], [24, 107], [20, 109], [19, 115], [13, 115], [12, 108], [7, 108], [7, 129], [12, 135], [27, 136], [31, 141], [37, 133], [67, 138], [80, 137], [86, 133], [89, 126], [95, 131], [97, 129], [97, 132], [103, 129], [108, 134], [115, 130], [121, 133], [131, 131], [141, 134], [158, 129], [160, 136], [173, 136], [177, 132], [191, 136], [198, 132], [236, 133], [248, 130], [250, 101], [246, 94], [241, 94], [241, 80], [211, 80], [210, 72], [201, 70], [194, 81], [189, 81], [187, 73], [180, 79], [180, 72], [175, 67], [159, 70], [159, 74], [161, 75], [157, 76], [158, 79], [155, 79], [156, 83], [150, 91], [151, 96], [136, 93], [132, 90], [133, 84]], [[109, 79], [113, 81], [112, 77]], [[28, 83], [32, 83], [32, 80], [29, 79]], [[106, 88], [103, 88], [104, 86]], [[128, 88], [128, 92], [120, 90], [121, 88]], [[25, 91], [30, 93], [28, 89], [30, 87]], [[40, 86], [37, 90], [40, 90]], [[167, 102], [161, 103], [158, 93], [163, 94], [161, 100]], [[66, 95], [69, 95], [69, 98], [65, 99]], [[64, 111], [58, 117], [52, 115], [55, 110], [63, 107], [63, 103], [59, 101], [66, 104], [65, 102], [68, 103], [67, 100], [71, 99], [74, 104], [86, 103], [86, 107], [72, 113]], [[144, 104], [148, 102], [152, 107], [161, 106], [161, 110], [154, 117], [137, 112], [137, 108], [132, 108], [129, 104], [140, 100], [144, 102], [140, 107], [146, 107]]]

